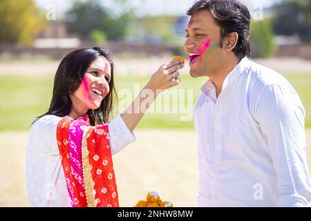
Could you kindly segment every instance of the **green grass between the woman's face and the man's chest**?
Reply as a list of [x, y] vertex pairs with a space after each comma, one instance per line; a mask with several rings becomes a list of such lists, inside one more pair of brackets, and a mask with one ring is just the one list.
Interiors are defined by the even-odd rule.
[[[204, 84], [206, 79], [207, 78], [194, 79], [190, 76], [182, 76], [182, 84], [159, 95], [156, 101], [149, 108], [148, 113], [144, 115], [142, 121], [140, 122], [140, 124], [138, 124], [138, 128], [194, 128], [194, 124], [192, 121], [193, 109], [196, 98], [200, 94], [200, 87], [202, 86], [202, 84]], [[140, 84], [140, 89], [142, 89], [148, 81], [148, 76], [123, 76], [117, 79], [116, 87], [117, 90], [119, 89], [119, 92], [120, 89], [122, 90], [122, 88], [129, 88], [133, 91], [134, 84]], [[187, 89], [194, 90], [191, 90], [191, 92], [189, 92], [187, 91]], [[138, 89], [136, 91], [138, 92]], [[178, 95], [178, 99], [173, 100], [173, 93], [176, 93]], [[182, 93], [185, 96], [183, 96]], [[189, 95], [192, 99], [185, 99], [185, 102], [180, 99]], [[133, 95], [131, 99], [129, 99], [129, 101], [132, 101], [135, 96]], [[166, 100], [169, 100], [169, 104], [167, 104]], [[120, 103], [121, 101], [119, 100], [119, 104]], [[128, 104], [130, 104], [130, 102]], [[189, 109], [187, 109], [188, 104]], [[180, 106], [181, 108], [179, 108]], [[160, 110], [157, 111], [157, 108], [158, 110]], [[164, 112], [165, 108], [167, 108], [167, 112], [169, 113]], [[175, 110], [178, 110], [178, 113], [173, 113], [174, 108]], [[119, 108], [119, 112], [121, 111], [124, 111], [124, 108]], [[180, 111], [183, 112], [180, 113]], [[187, 117], [189, 115], [190, 117]], [[187, 117], [187, 119], [181, 121], [180, 119], [182, 119], [182, 117]]]

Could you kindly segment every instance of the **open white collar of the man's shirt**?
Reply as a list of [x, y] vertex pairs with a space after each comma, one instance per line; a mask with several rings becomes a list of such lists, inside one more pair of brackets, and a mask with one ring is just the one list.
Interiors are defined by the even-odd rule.
[[[230, 86], [232, 82], [234, 82], [234, 80], [240, 77], [240, 75], [247, 67], [249, 67], [249, 59], [247, 59], [247, 57], [244, 57], [243, 59], [241, 59], [238, 65], [227, 75], [227, 77], [223, 81], [223, 88], [221, 91], [228, 88], [228, 86]], [[205, 95], [205, 97], [216, 99], [215, 84], [211, 79], [209, 79], [205, 84], [202, 85], [201, 91]]]

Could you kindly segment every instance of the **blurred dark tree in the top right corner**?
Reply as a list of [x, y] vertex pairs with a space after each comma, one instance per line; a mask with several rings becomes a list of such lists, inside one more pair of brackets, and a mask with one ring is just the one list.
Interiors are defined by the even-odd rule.
[[311, 42], [311, 1], [285, 1], [278, 6], [272, 27], [276, 35], [298, 35]]

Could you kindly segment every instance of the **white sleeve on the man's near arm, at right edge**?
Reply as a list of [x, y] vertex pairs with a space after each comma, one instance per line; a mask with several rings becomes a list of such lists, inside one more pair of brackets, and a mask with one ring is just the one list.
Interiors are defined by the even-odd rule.
[[265, 86], [256, 109], [277, 175], [278, 206], [310, 206], [305, 110], [299, 96], [288, 85]]

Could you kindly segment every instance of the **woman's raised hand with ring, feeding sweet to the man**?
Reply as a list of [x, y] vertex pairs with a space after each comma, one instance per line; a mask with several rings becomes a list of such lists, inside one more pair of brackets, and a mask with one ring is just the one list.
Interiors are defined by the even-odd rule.
[[164, 90], [180, 84], [179, 69], [185, 65], [181, 59], [176, 59], [167, 62], [160, 66], [160, 68], [151, 76], [146, 88], [151, 90]]

